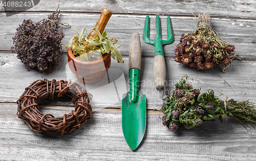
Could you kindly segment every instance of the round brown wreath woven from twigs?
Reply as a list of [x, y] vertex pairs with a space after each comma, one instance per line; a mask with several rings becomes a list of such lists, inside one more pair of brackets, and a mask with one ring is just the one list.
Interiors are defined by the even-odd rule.
[[[55, 118], [51, 114], [42, 114], [38, 102], [54, 97], [68, 96], [76, 104], [75, 110], [63, 117]], [[90, 96], [90, 98], [89, 98]], [[18, 118], [23, 119], [35, 132], [71, 133], [92, 117], [92, 95], [86, 88], [69, 81], [48, 81], [47, 79], [33, 82], [25, 88], [25, 92], [17, 100]]]

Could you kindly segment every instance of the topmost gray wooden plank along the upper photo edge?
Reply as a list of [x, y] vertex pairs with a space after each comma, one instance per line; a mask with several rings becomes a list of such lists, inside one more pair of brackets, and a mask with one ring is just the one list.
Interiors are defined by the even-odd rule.
[[[38, 2], [38, 1], [37, 1]], [[209, 12], [213, 16], [219, 17], [255, 17], [255, 3], [253, 0], [248, 1], [183, 1], [183, 0], [168, 0], [168, 1], [150, 1], [150, 0], [104, 0], [104, 1], [40, 1], [35, 7], [30, 8], [30, 12], [53, 12], [57, 6], [63, 12], [81, 12], [100, 13], [103, 8], [109, 9], [114, 13], [124, 14], [164, 14], [164, 15], [187, 15], [191, 13], [199, 14]], [[209, 9], [208, 9], [209, 6]], [[0, 11], [4, 12], [4, 7], [0, 6]], [[23, 10], [22, 7], [6, 9], [16, 12]]]

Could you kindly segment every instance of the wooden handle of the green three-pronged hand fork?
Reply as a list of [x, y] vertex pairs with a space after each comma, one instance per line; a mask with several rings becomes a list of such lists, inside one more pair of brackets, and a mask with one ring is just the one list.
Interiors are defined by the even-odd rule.
[[165, 87], [166, 67], [164, 57], [161, 55], [154, 57], [154, 79], [156, 89], [163, 91]]

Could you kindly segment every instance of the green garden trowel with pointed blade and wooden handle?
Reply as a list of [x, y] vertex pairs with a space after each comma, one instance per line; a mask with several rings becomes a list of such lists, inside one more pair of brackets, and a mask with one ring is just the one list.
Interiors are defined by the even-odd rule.
[[133, 33], [129, 50], [130, 91], [122, 97], [123, 135], [132, 150], [139, 146], [146, 129], [146, 96], [139, 93], [140, 64], [140, 36]]

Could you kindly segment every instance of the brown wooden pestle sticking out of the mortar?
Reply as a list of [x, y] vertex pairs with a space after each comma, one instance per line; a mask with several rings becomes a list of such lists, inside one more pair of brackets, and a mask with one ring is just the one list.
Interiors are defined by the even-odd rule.
[[102, 34], [105, 29], [106, 23], [108, 23], [111, 15], [112, 15], [111, 11], [103, 8], [101, 15], [98, 19], [98, 22], [96, 23], [96, 25], [94, 26], [93, 30], [91, 31], [91, 33], [88, 35], [87, 38], [88, 39], [93, 38], [94, 35], [98, 36], [96, 29], [98, 29], [99, 32]]

